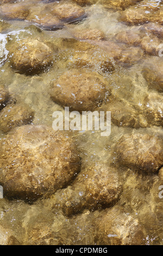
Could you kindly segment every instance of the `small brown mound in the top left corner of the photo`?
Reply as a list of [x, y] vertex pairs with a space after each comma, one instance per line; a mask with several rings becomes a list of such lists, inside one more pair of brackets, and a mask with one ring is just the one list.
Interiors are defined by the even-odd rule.
[[28, 6], [22, 3], [8, 3], [0, 7], [0, 15], [9, 20], [24, 20], [28, 14]]

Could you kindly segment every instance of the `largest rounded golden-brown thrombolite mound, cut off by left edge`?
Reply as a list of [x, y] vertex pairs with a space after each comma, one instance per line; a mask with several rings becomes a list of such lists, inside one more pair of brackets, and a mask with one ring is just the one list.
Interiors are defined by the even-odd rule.
[[4, 196], [37, 199], [71, 183], [80, 159], [71, 138], [46, 126], [23, 125], [1, 139]]

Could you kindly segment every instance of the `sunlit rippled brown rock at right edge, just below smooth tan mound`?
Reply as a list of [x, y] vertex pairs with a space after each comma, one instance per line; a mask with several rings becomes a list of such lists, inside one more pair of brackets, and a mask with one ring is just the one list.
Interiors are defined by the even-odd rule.
[[163, 96], [151, 92], [145, 97], [143, 112], [149, 124], [163, 126]]

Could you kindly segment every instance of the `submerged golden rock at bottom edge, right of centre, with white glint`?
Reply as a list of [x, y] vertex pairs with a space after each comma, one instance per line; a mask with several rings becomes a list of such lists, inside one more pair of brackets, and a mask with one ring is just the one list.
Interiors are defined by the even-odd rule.
[[145, 245], [145, 234], [138, 218], [115, 206], [95, 220], [99, 245]]

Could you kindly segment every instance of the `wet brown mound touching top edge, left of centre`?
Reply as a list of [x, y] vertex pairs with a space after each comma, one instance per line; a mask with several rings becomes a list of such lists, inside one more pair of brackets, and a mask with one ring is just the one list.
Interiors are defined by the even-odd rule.
[[75, 22], [84, 19], [86, 16], [84, 9], [76, 3], [61, 1], [59, 3], [49, 4], [48, 9], [53, 15], [58, 16], [64, 22]]

